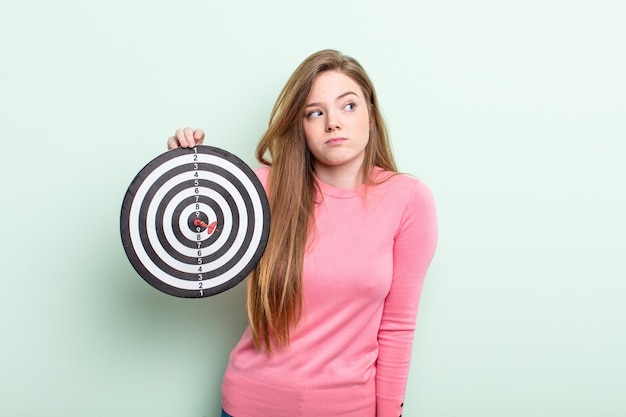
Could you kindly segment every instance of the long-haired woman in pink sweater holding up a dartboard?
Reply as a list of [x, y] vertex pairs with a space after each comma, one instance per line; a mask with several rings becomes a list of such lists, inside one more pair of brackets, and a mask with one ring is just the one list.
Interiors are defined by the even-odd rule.
[[[203, 141], [179, 129], [168, 147]], [[332, 50], [305, 59], [256, 156], [272, 224], [248, 279], [250, 325], [230, 354], [223, 415], [401, 415], [436, 214], [428, 187], [397, 173], [358, 62]]]

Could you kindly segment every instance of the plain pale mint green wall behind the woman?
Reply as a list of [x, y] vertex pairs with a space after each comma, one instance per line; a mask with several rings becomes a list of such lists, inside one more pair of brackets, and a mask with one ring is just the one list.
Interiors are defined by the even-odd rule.
[[405, 415], [626, 415], [622, 0], [3, 0], [0, 47], [0, 415], [217, 415], [245, 288], [152, 289], [121, 201], [176, 127], [254, 163], [327, 47], [437, 197]]

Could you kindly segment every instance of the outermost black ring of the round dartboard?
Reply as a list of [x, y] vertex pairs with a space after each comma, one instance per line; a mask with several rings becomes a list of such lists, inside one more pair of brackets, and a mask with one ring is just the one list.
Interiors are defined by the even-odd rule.
[[[240, 270], [240, 272], [236, 273], [236, 275], [227, 281], [212, 286], [204, 288], [202, 292], [197, 289], [185, 289], [176, 287], [174, 285], [170, 285], [158, 277], [156, 277], [152, 272], [148, 270], [148, 268], [144, 265], [141, 257], [137, 254], [135, 245], [133, 244], [131, 237], [131, 207], [135, 201], [135, 195], [137, 194], [139, 188], [142, 186], [144, 181], [150, 176], [150, 174], [159, 168], [164, 163], [178, 158], [184, 155], [193, 155], [197, 154], [207, 154], [216, 156], [220, 159], [224, 159], [227, 162], [235, 165], [241, 173], [245, 175], [245, 177], [250, 181], [252, 186], [254, 187], [254, 191], [256, 192], [254, 197], [258, 198], [258, 202], [261, 205], [262, 215], [260, 218], [254, 217], [254, 221], [262, 223], [261, 236], [258, 241], [258, 246], [253, 250], [253, 255], [247, 264]], [[235, 176], [235, 175], [233, 175]], [[156, 182], [156, 181], [154, 181]], [[151, 187], [153, 184], [148, 183]], [[232, 197], [230, 197], [232, 199]], [[250, 198], [249, 196], [242, 196], [242, 199]], [[143, 204], [143, 203], [138, 203]], [[131, 181], [126, 193], [124, 195], [124, 199], [122, 202], [122, 209], [120, 213], [120, 235], [122, 239], [122, 246], [124, 247], [124, 251], [126, 253], [127, 258], [129, 259], [131, 265], [135, 269], [135, 271], [144, 279], [150, 286], [156, 288], [157, 290], [180, 298], [206, 298], [213, 295], [220, 294], [224, 291], [227, 291], [239, 283], [241, 283], [255, 268], [256, 264], [261, 259], [265, 251], [265, 247], [267, 245], [267, 240], [269, 237], [269, 224], [270, 224], [270, 216], [269, 216], [269, 202], [267, 200], [267, 195], [265, 194], [265, 189], [261, 184], [261, 181], [255, 174], [255, 172], [239, 157], [236, 155], [214, 146], [207, 145], [197, 145], [195, 148], [176, 148], [169, 150], [167, 152], [158, 155], [150, 162], [148, 162], [138, 173], [135, 175], [133, 180]], [[241, 251], [242, 249], [237, 249]], [[144, 249], [145, 251], [145, 249]], [[230, 260], [227, 262], [231, 262]], [[176, 278], [176, 277], [174, 277]], [[210, 279], [210, 278], [209, 278]]]

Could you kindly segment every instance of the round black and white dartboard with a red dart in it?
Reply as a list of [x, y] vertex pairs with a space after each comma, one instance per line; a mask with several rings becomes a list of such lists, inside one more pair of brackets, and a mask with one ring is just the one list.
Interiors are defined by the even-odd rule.
[[122, 203], [126, 255], [151, 286], [208, 297], [240, 283], [263, 255], [269, 204], [254, 171], [211, 146], [177, 148], [150, 161]]

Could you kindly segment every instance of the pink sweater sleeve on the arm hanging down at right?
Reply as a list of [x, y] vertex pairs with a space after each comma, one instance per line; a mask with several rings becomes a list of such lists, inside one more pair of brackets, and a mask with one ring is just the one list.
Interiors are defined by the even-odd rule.
[[378, 331], [377, 417], [402, 415], [422, 284], [436, 245], [435, 202], [418, 182], [395, 234], [393, 279]]

